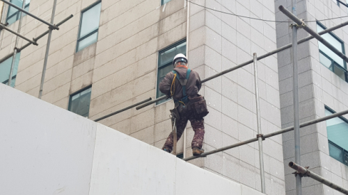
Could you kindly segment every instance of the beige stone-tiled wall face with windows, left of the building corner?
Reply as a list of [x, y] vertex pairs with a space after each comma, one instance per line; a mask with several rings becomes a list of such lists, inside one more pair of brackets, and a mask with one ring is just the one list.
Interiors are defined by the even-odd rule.
[[[52, 35], [42, 93], [42, 100], [66, 109], [70, 94], [92, 85], [90, 119], [149, 97], [155, 99], [157, 53], [183, 40], [187, 32], [184, 1], [173, 0], [161, 6], [159, 0], [104, 0], [98, 41], [76, 53], [81, 10], [94, 2], [58, 1], [55, 23], [70, 14], [74, 17]], [[33, 0], [29, 10], [49, 21], [52, 2]], [[17, 25], [15, 22], [10, 28], [17, 29]], [[46, 31], [47, 26], [26, 16], [22, 29], [26, 37], [36, 37]], [[13, 51], [15, 37], [12, 34], [5, 32], [1, 42], [0, 56]], [[17, 90], [38, 96], [46, 42], [47, 36], [38, 41], [39, 46], [29, 46], [22, 51]], [[167, 112], [171, 104], [127, 110], [100, 123], [161, 146], [170, 126]]]

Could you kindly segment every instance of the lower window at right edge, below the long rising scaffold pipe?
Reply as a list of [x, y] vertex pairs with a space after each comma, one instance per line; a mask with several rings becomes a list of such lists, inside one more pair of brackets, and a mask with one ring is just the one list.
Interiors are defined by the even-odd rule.
[[[325, 107], [325, 115], [335, 113]], [[336, 117], [326, 121], [327, 137], [329, 139], [329, 153], [332, 158], [348, 165], [348, 120]]]

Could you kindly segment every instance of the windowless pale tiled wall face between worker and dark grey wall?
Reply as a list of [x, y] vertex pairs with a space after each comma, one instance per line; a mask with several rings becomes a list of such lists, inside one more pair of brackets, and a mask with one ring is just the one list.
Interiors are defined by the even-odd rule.
[[[274, 1], [194, 1], [237, 15], [274, 20]], [[276, 24], [226, 15], [191, 4], [189, 67], [207, 78], [276, 49]], [[196, 21], [196, 22], [195, 22]], [[200, 37], [200, 35], [205, 35]], [[276, 56], [258, 62], [263, 133], [280, 130]], [[205, 150], [251, 139], [257, 134], [253, 65], [214, 78], [203, 86], [209, 107]], [[191, 136], [189, 136], [189, 141]], [[189, 143], [188, 145], [189, 146]], [[284, 194], [281, 137], [264, 141], [266, 193]], [[258, 144], [209, 155], [203, 167], [261, 190]]]

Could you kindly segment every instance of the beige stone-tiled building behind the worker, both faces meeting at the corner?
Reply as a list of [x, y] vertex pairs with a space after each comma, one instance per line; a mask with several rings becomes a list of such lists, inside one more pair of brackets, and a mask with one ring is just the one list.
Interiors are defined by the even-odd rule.
[[[72, 96], [90, 88], [88, 118], [93, 120], [128, 105], [157, 96], [161, 53], [186, 42], [189, 68], [201, 79], [235, 67], [276, 49], [276, 10], [273, 0], [187, 1], [102, 0], [100, 21], [92, 33], [97, 41], [84, 49], [81, 15], [97, 5], [95, 0], [58, 1], [55, 23], [74, 17], [52, 35], [42, 100], [70, 109]], [[32, 0], [29, 11], [49, 21], [52, 1]], [[163, 5], [162, 5], [163, 3]], [[206, 7], [206, 8], [204, 8]], [[189, 8], [189, 9], [188, 9]], [[7, 11], [7, 6], [3, 11]], [[245, 17], [236, 17], [227, 12]], [[188, 17], [189, 14], [189, 17]], [[6, 16], [6, 14], [3, 14]], [[189, 18], [189, 21], [188, 21]], [[6, 19], [2, 18], [2, 22]], [[17, 29], [18, 21], [9, 25]], [[45, 24], [24, 16], [22, 34], [37, 37]], [[15, 37], [1, 31], [0, 57], [13, 51]], [[20, 53], [15, 88], [38, 96], [46, 38], [39, 46]], [[19, 46], [24, 44], [21, 40]], [[286, 56], [290, 58], [290, 55]], [[262, 133], [280, 130], [280, 97], [277, 55], [258, 62]], [[253, 65], [204, 83], [209, 115], [205, 117], [205, 151], [255, 137], [257, 119]], [[280, 82], [281, 83], [281, 82]], [[101, 124], [161, 148], [171, 132], [168, 117], [173, 101], [127, 110], [100, 121]], [[336, 110], [338, 111], [338, 110]], [[191, 155], [193, 130], [187, 126], [187, 143], [178, 142], [178, 152]], [[283, 143], [280, 135], [264, 141], [266, 193], [285, 194]], [[185, 147], [184, 147], [185, 145]], [[251, 143], [191, 163], [253, 189], [261, 190], [258, 144]]]

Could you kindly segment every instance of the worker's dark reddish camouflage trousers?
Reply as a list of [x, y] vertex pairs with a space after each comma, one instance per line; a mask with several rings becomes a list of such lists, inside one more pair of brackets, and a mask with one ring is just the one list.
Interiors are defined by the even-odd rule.
[[[193, 131], [195, 132], [195, 135], [193, 136], [193, 140], [191, 143], [191, 148], [198, 147], [199, 149], [202, 149], [205, 133], [204, 119], [195, 119], [193, 117], [193, 113], [190, 111], [180, 112], [180, 119], [175, 121], [175, 125], [177, 128], [177, 140], [180, 139], [182, 133], [184, 132], [185, 127], [187, 125], [187, 121], [191, 122]], [[166, 147], [170, 151], [173, 151], [173, 141], [173, 133], [171, 133], [166, 139], [166, 143], [164, 143], [163, 148]]]

